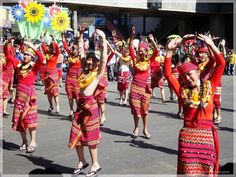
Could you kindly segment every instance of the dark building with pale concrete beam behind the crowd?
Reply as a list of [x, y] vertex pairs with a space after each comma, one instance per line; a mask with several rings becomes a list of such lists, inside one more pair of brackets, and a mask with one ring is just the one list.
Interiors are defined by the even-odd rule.
[[[11, 6], [17, 0], [3, 0], [3, 6]], [[128, 37], [131, 25], [137, 32], [153, 32], [160, 42], [169, 34], [202, 33], [210, 31], [221, 36], [233, 48], [232, 3], [206, 3], [202, 0], [38, 0], [43, 4], [61, 4], [71, 10], [72, 28], [86, 18], [111, 34], [118, 31]]]

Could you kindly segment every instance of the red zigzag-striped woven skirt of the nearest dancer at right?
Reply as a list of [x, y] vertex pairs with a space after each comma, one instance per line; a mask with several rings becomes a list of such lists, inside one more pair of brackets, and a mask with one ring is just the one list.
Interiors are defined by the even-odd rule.
[[217, 159], [214, 138], [211, 128], [182, 128], [179, 133], [178, 174], [213, 176]]

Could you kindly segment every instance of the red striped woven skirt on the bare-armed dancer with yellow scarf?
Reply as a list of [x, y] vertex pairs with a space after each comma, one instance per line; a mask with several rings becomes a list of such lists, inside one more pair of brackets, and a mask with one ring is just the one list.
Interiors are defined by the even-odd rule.
[[101, 140], [97, 101], [93, 96], [80, 96], [78, 105], [68, 147], [96, 146]]

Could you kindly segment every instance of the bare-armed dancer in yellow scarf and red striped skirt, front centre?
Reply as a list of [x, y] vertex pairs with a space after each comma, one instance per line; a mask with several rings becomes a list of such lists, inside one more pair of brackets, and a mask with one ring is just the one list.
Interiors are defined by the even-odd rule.
[[[96, 29], [95, 34], [102, 42], [102, 53], [89, 50], [86, 57], [81, 58], [82, 73], [79, 77], [80, 97], [70, 133], [69, 147], [76, 148], [79, 158], [74, 174], [79, 174], [89, 165], [84, 157], [84, 146], [88, 146], [92, 166], [87, 177], [94, 176], [101, 167], [98, 163], [97, 145], [101, 140], [100, 119], [97, 100], [94, 98], [99, 81], [103, 78], [107, 63], [107, 41], [105, 34]], [[81, 46], [81, 43], [79, 43]], [[100, 64], [98, 62], [101, 58]]]

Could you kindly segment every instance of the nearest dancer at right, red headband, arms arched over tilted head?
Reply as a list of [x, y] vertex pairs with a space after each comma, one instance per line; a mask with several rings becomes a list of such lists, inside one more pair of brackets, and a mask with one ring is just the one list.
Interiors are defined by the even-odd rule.
[[225, 61], [209, 37], [199, 34], [198, 38], [214, 53], [216, 66], [211, 77], [201, 81], [198, 66], [191, 62], [178, 67], [181, 83], [173, 76], [172, 55], [181, 38], [168, 43], [164, 74], [183, 105], [184, 127], [179, 134], [177, 172], [213, 176], [218, 174], [219, 169], [219, 139], [212, 122], [213, 94], [224, 72]]

